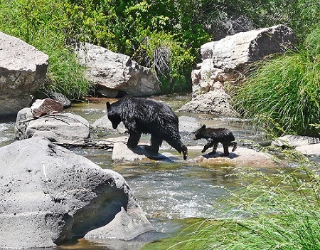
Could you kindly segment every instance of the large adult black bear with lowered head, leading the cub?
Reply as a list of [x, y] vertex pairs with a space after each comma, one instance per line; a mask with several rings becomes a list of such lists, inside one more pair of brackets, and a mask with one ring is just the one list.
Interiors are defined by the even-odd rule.
[[186, 160], [188, 149], [181, 142], [178, 117], [171, 108], [148, 98], [134, 98], [126, 95], [117, 102], [107, 102], [107, 116], [114, 129], [123, 123], [129, 132], [127, 146], [137, 147], [142, 133], [151, 134], [151, 145], [146, 150], [158, 152], [163, 140], [183, 153]]

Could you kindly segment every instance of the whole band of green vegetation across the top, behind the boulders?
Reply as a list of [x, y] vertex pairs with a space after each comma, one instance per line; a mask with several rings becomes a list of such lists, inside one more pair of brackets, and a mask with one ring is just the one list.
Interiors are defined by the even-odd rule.
[[302, 41], [319, 23], [316, 0], [1, 0], [0, 31], [50, 56], [48, 85], [69, 98], [87, 95], [68, 46], [87, 41], [132, 56], [161, 79], [164, 93], [191, 90], [203, 43], [251, 28], [287, 24]]

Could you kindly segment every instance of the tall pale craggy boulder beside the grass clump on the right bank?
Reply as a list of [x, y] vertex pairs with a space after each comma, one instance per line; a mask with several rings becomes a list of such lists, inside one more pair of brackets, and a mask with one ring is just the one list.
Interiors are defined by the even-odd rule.
[[[225, 84], [238, 83], [244, 80], [242, 70], [250, 63], [258, 61], [265, 56], [274, 53], [283, 53], [287, 48], [292, 48], [294, 43], [294, 32], [291, 28], [278, 25], [268, 28], [236, 33], [233, 36], [227, 36], [219, 41], [212, 41], [201, 46], [202, 63], [192, 71], [192, 95], [196, 98], [208, 92], [217, 92], [215, 96], [225, 98], [227, 113], [221, 113], [222, 116], [228, 116], [228, 95], [225, 92]], [[210, 113], [207, 109], [211, 102], [213, 114], [216, 114], [217, 98], [204, 98], [206, 103], [198, 103], [195, 100], [190, 105], [183, 107], [181, 111]], [[220, 113], [220, 111], [218, 111]], [[231, 112], [233, 113], [233, 112]]]

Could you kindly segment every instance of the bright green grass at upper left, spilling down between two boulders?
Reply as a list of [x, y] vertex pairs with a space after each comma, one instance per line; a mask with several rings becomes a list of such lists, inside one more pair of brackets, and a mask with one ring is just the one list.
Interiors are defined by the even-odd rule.
[[0, 1], [0, 31], [38, 48], [49, 56], [46, 83], [41, 91], [58, 91], [70, 99], [82, 98], [91, 88], [75, 53], [66, 42], [70, 20], [62, 0]]

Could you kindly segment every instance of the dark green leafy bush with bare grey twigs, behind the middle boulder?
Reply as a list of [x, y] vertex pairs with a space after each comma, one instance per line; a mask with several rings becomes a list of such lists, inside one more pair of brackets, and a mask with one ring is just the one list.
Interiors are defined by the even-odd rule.
[[191, 69], [209, 36], [191, 25], [188, 1], [70, 0], [65, 6], [73, 37], [151, 67], [163, 93], [191, 90]]

